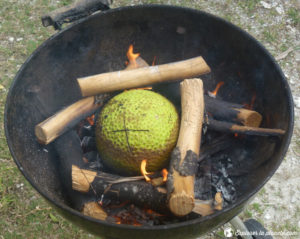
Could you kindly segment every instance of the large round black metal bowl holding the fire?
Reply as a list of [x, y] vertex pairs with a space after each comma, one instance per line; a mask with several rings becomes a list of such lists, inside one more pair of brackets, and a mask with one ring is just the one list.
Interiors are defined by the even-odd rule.
[[[256, 94], [256, 110], [263, 126], [286, 134], [270, 149], [259, 150], [268, 138], [259, 138], [255, 157], [264, 162], [248, 174], [247, 187], [234, 204], [213, 215], [165, 226], [115, 225], [82, 215], [66, 199], [57, 170], [53, 145], [42, 146], [34, 127], [63, 106], [80, 99], [76, 78], [123, 68], [126, 50], [159, 64], [202, 55], [212, 69], [205, 88], [225, 81], [224, 99], [243, 103]], [[178, 99], [178, 84], [156, 89]], [[5, 132], [11, 154], [32, 186], [72, 222], [102, 238], [195, 238], [240, 213], [279, 167], [293, 130], [293, 101], [284, 75], [267, 50], [249, 34], [205, 12], [151, 5], [124, 7], [92, 15], [45, 41], [23, 64], [10, 88], [5, 109]], [[266, 148], [266, 147], [265, 147]], [[72, 150], [66, 149], [66, 150]]]

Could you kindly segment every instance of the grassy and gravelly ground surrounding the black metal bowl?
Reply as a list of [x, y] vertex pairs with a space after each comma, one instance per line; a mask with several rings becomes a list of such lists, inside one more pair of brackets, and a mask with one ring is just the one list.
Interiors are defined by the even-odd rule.
[[[60, 217], [32, 189], [12, 161], [4, 135], [4, 104], [12, 79], [30, 53], [54, 34], [41, 26], [40, 16], [70, 2], [0, 1], [0, 239], [96, 238]], [[300, 238], [300, 0], [115, 0], [112, 7], [146, 3], [220, 16], [254, 36], [277, 59], [294, 98], [294, 134], [283, 163], [241, 218], [255, 218], [277, 234], [294, 233], [274, 238]], [[225, 237], [221, 228], [203, 238]]]

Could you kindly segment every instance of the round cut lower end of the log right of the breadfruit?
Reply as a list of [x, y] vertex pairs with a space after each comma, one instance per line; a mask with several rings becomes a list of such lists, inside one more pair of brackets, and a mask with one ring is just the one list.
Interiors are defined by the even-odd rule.
[[170, 211], [178, 217], [185, 216], [192, 212], [194, 206], [194, 197], [184, 192], [172, 195], [169, 200]]

